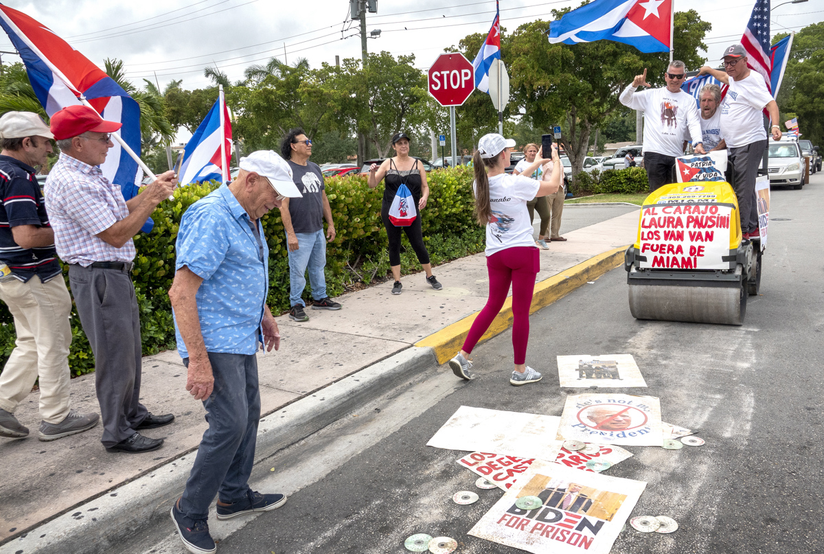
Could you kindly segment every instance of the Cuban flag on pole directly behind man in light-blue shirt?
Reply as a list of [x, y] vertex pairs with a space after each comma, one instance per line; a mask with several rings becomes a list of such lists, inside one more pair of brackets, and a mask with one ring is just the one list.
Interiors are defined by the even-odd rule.
[[180, 185], [189, 185], [214, 179], [228, 181], [229, 160], [232, 157], [232, 124], [223, 97], [223, 87], [218, 100], [208, 110], [206, 118], [186, 143], [183, 161], [180, 163]]

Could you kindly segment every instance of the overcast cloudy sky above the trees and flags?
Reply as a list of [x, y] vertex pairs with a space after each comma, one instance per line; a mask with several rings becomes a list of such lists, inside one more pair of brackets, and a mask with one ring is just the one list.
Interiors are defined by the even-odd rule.
[[[824, 19], [824, 0], [779, 5], [773, 0], [772, 33]], [[299, 57], [311, 67], [323, 62], [360, 58], [358, 26], [349, 20], [349, 0], [5, 0], [9, 7], [40, 21], [68, 40], [92, 62], [123, 59], [136, 85], [141, 78], [161, 87], [183, 79], [186, 88], [208, 86], [204, 67], [217, 65], [232, 81], [252, 63], [277, 55], [288, 63]], [[676, 11], [697, 10], [712, 23], [707, 37], [709, 59], [737, 41], [755, 0], [675, 0]], [[580, 0], [501, 0], [501, 22], [513, 31], [526, 21], [550, 20], [553, 8], [577, 6]], [[368, 14], [367, 31], [382, 35], [368, 40], [370, 51], [415, 54], [415, 65], [427, 68], [444, 47], [462, 37], [489, 31], [495, 3], [471, 0], [378, 0], [377, 14]], [[341, 36], [344, 40], [341, 40]], [[6, 35], [0, 49], [12, 50]], [[677, 56], [678, 53], [676, 53]], [[3, 54], [4, 63], [19, 60]], [[506, 60], [504, 60], [506, 61]]]

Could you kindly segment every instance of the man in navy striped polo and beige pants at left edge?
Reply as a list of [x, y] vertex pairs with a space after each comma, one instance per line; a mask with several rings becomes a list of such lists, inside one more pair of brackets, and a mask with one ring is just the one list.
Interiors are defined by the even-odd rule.
[[14, 317], [17, 340], [0, 373], [0, 436], [26, 437], [13, 415], [40, 378], [40, 440], [82, 433], [100, 416], [69, 407], [68, 347], [72, 298], [54, 248], [54, 231], [35, 178], [54, 135], [29, 111], [0, 117], [0, 299]]

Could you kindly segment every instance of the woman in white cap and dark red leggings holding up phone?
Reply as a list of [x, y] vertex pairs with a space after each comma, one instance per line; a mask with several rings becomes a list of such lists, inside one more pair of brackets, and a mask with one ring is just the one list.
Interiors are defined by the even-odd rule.
[[463, 348], [449, 360], [452, 372], [466, 380], [475, 378], [470, 369], [469, 354], [484, 335], [507, 298], [509, 285], [513, 288], [513, 350], [515, 369], [509, 378], [513, 385], [525, 385], [541, 380], [541, 373], [527, 367], [529, 340], [529, 307], [539, 268], [539, 254], [532, 240], [527, 202], [536, 196], [551, 195], [558, 190], [564, 171], [555, 145], [552, 146], [554, 167], [550, 181], [536, 181], [532, 175], [548, 162], [542, 152], [535, 157], [523, 175], [507, 175], [509, 153], [515, 146], [512, 139], [499, 134], [486, 134], [473, 157], [475, 168], [475, 217], [486, 226], [486, 269], [489, 272], [489, 300], [466, 337]]

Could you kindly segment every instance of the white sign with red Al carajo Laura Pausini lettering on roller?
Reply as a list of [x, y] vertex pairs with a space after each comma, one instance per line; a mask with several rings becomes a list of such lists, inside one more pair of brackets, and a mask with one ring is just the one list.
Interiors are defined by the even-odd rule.
[[[700, 189], [700, 185], [686, 187]], [[700, 190], [693, 191], [700, 193]], [[667, 198], [662, 197], [663, 198]], [[653, 205], [641, 214], [642, 268], [728, 270], [730, 220], [726, 205]]]

